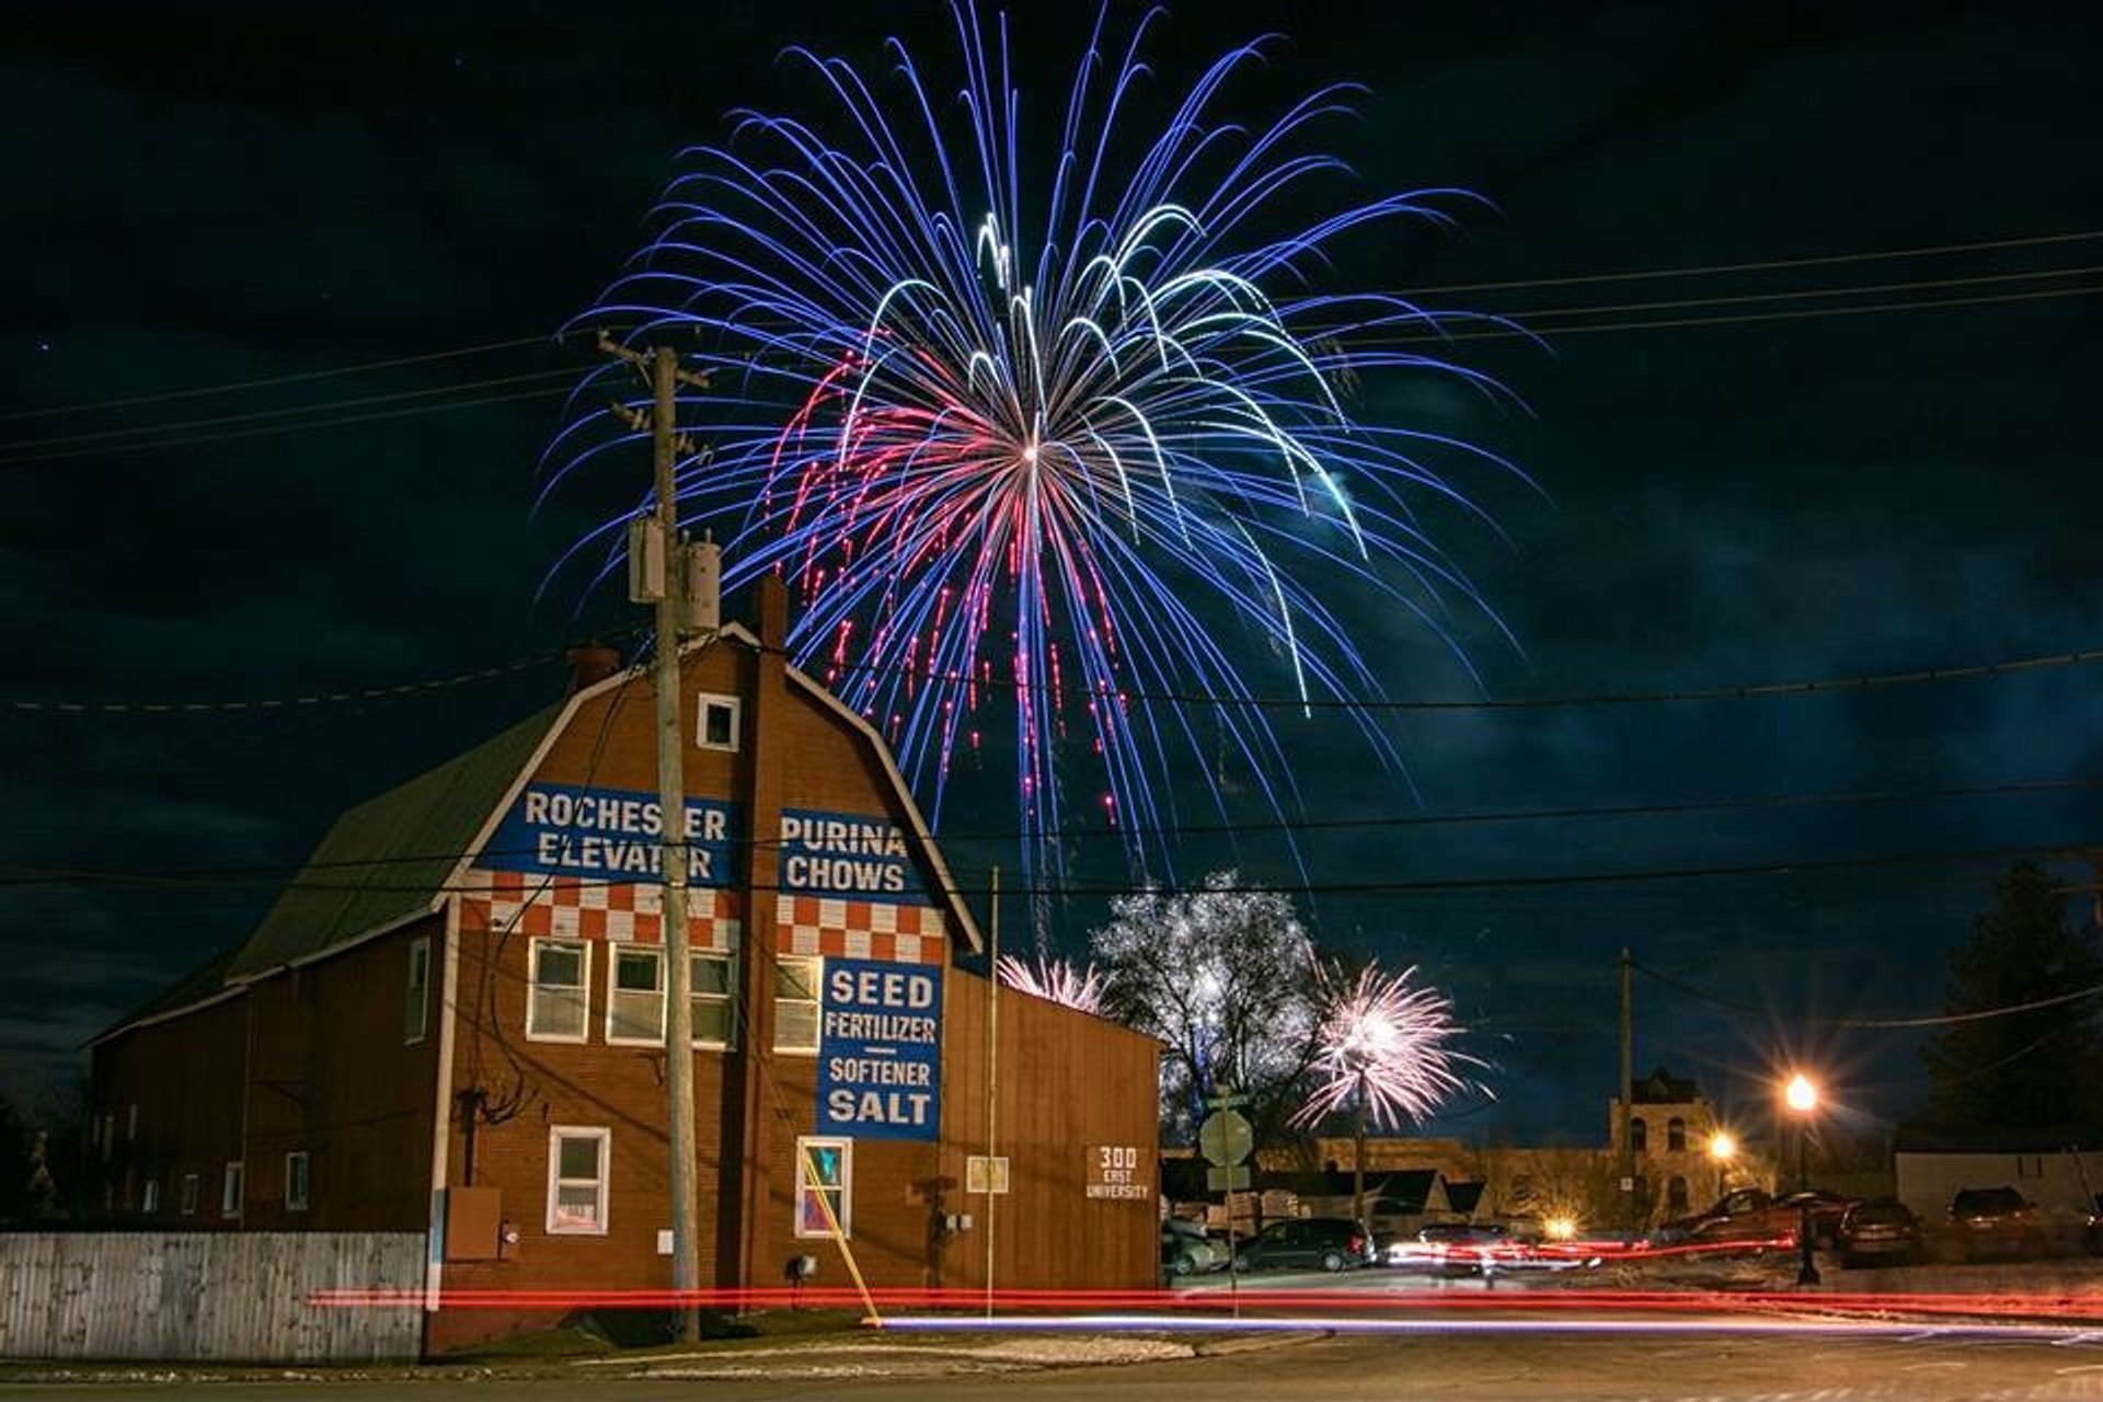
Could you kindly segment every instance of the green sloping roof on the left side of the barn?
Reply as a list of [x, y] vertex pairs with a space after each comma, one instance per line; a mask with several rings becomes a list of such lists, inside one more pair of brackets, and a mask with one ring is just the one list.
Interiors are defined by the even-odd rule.
[[227, 977], [252, 977], [429, 910], [559, 713], [530, 715], [343, 813]]

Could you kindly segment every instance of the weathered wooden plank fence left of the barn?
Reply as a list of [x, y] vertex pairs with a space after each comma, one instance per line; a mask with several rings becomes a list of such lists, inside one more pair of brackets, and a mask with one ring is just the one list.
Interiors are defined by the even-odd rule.
[[313, 1291], [423, 1291], [421, 1232], [0, 1234], [0, 1358], [412, 1360], [423, 1312]]

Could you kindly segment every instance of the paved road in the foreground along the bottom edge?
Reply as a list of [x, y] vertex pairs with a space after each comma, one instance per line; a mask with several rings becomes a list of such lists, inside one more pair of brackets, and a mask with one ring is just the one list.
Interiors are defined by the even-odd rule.
[[[1607, 1320], [1611, 1316], [1588, 1316]], [[1626, 1320], [1626, 1316], [1621, 1316]], [[1563, 1316], [1567, 1322], [1567, 1316]], [[1775, 1320], [1769, 1320], [1773, 1324]], [[1678, 1328], [1729, 1320], [1678, 1316]], [[2002, 1341], [1962, 1331], [1910, 1337], [1798, 1335], [1327, 1335], [1270, 1347], [1119, 1366], [1037, 1373], [898, 1377], [942, 1349], [980, 1347], [953, 1337], [843, 1341], [814, 1349], [711, 1354], [673, 1375], [633, 1377], [627, 1364], [572, 1368], [568, 1377], [448, 1377], [423, 1368], [374, 1381], [40, 1383], [0, 1381], [0, 1396], [36, 1402], [2015, 1402], [2103, 1398], [2103, 1337]], [[1237, 1347], [1234, 1345], [1226, 1347]], [[885, 1358], [890, 1356], [890, 1358]], [[892, 1370], [892, 1377], [869, 1377]], [[414, 1381], [412, 1381], [414, 1379]]]

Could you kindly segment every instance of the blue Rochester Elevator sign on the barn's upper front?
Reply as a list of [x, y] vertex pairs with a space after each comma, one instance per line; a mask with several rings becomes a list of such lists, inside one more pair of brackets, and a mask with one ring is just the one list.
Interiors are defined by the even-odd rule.
[[[660, 813], [652, 792], [528, 784], [475, 864], [591, 881], [662, 881]], [[686, 872], [692, 885], [721, 887], [736, 879], [736, 818], [732, 803], [686, 801]]]

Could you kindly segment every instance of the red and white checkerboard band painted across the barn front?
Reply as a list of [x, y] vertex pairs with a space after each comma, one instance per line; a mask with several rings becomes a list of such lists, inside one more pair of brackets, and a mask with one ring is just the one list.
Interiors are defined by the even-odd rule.
[[[477, 872], [486, 893], [461, 898], [461, 919], [471, 929], [517, 929], [559, 940], [662, 944], [660, 887], [637, 883], [534, 877], [530, 872]], [[730, 954], [744, 929], [736, 891], [692, 887], [688, 927], [696, 952]], [[782, 895], [776, 902], [774, 948], [782, 954], [942, 963], [946, 927], [927, 906], [892, 906], [866, 900]]]

